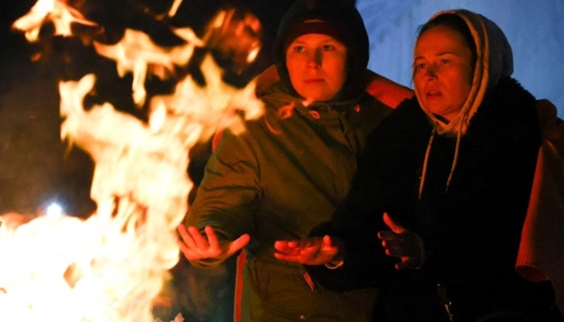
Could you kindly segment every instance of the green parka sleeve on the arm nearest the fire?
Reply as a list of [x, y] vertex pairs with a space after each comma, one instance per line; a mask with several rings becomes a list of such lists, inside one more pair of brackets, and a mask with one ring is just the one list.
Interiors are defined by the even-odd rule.
[[[196, 200], [188, 209], [185, 224], [203, 230], [211, 226], [218, 238], [233, 240], [253, 229], [262, 190], [255, 153], [257, 142], [248, 133], [225, 131], [206, 164]], [[212, 267], [217, 261], [192, 263]]]

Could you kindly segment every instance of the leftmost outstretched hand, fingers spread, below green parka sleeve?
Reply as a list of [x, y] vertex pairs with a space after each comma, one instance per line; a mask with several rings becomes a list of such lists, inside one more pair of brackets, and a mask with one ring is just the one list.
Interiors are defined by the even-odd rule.
[[178, 232], [182, 238], [178, 240], [178, 246], [186, 259], [227, 259], [244, 248], [250, 240], [248, 234], [243, 234], [233, 241], [221, 241], [211, 226], [206, 226], [204, 231], [206, 234], [202, 234], [194, 226], [186, 229], [183, 224], [178, 225]]

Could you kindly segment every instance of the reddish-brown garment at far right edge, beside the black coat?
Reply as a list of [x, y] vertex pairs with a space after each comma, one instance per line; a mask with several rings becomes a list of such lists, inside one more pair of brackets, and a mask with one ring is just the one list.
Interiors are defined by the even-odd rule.
[[564, 312], [564, 121], [551, 102], [537, 102], [544, 141], [522, 230], [516, 270], [531, 281], [549, 279]]

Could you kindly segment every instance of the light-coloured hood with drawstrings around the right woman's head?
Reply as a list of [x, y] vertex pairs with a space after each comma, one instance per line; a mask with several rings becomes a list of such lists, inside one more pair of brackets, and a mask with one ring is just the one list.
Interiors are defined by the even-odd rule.
[[[488, 91], [499, 83], [499, 80], [509, 77], [513, 73], [513, 54], [508, 39], [497, 24], [483, 15], [468, 10], [441, 11], [431, 17], [439, 15], [458, 15], [466, 22], [476, 44], [476, 65], [474, 77], [468, 98], [458, 116], [449, 122], [441, 122], [431, 112], [428, 112], [419, 101], [419, 105], [436, 124], [438, 133], [451, 132], [464, 134], [468, 124], [478, 111], [478, 107], [488, 94]], [[430, 21], [429, 20], [429, 21]]]

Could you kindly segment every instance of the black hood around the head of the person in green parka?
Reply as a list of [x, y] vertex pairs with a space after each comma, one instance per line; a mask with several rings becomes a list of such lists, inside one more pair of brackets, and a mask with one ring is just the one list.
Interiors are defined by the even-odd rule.
[[286, 15], [282, 17], [273, 45], [274, 63], [281, 82], [288, 92], [297, 95], [287, 72], [284, 44], [287, 42], [288, 34], [297, 24], [314, 19], [331, 25], [339, 31], [338, 34], [346, 35], [338, 39], [347, 46], [349, 57], [347, 82], [344, 84], [341, 96], [343, 99], [356, 97], [362, 92], [358, 75], [364, 73], [368, 66], [369, 41], [362, 16], [351, 0], [297, 0], [288, 9]]

